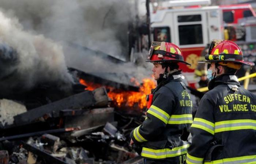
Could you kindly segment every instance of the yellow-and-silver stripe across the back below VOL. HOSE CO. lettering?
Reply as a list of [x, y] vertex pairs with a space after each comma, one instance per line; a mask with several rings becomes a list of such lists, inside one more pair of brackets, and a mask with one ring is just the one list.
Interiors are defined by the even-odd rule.
[[215, 133], [242, 129], [256, 130], [256, 120], [241, 119], [215, 122]]

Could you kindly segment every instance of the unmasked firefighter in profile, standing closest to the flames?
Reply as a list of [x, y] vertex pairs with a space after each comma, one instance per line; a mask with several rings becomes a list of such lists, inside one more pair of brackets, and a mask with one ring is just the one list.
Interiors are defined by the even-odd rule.
[[[173, 43], [152, 42], [147, 62], [153, 63], [157, 87], [142, 125], [131, 132], [131, 144], [142, 147], [145, 164], [185, 163], [192, 123], [192, 101], [181, 79], [181, 50]], [[152, 95], [151, 94], [151, 95]], [[150, 99], [150, 97], [148, 97]]]

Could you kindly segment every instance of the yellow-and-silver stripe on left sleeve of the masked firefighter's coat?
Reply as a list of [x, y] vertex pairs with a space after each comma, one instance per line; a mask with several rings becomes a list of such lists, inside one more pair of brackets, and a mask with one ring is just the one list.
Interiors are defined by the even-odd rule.
[[214, 129], [215, 129], [214, 123], [204, 120], [203, 118], [194, 118], [191, 128], [192, 127], [199, 128], [199, 129], [205, 130], [206, 132], [214, 134]]

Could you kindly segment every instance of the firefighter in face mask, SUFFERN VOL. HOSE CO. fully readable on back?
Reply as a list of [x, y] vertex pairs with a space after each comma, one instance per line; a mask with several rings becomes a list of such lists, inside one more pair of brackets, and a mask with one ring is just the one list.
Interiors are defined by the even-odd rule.
[[209, 91], [202, 97], [191, 125], [188, 164], [256, 163], [256, 96], [240, 86], [236, 72], [244, 65], [238, 45], [214, 40], [206, 61]]

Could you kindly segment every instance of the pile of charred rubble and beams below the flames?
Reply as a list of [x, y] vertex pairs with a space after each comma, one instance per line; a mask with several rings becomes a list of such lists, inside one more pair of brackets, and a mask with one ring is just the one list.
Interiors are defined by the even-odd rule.
[[110, 102], [104, 87], [31, 110], [1, 99], [0, 164], [142, 163], [129, 133], [143, 112], [120, 113]]

